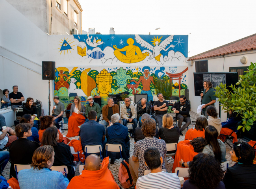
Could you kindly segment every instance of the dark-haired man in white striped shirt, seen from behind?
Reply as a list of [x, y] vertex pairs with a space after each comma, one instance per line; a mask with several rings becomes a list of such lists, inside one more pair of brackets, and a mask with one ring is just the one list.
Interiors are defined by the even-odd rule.
[[139, 177], [137, 189], [180, 189], [180, 180], [176, 173], [162, 170], [163, 158], [158, 148], [152, 146], [145, 150], [144, 159], [150, 173]]

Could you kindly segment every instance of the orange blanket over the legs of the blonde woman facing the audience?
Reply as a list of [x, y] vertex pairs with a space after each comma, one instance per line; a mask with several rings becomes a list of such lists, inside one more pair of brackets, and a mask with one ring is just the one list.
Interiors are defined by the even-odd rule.
[[78, 136], [80, 128], [78, 126], [82, 125], [85, 122], [85, 117], [82, 114], [72, 113], [72, 116], [69, 117], [69, 130], [67, 133], [67, 137], [75, 137]]

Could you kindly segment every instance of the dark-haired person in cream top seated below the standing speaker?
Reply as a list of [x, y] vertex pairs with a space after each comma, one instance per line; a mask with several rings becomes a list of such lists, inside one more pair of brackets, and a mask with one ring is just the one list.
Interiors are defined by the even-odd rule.
[[217, 129], [218, 131], [218, 136], [221, 134], [221, 119], [218, 117], [218, 113], [215, 109], [214, 106], [208, 106], [207, 109], [207, 114], [208, 114], [208, 125], [212, 125]]

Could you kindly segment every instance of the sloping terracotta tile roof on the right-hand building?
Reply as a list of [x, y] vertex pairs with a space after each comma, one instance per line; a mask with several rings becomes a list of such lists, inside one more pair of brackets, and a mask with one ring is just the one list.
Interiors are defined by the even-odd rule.
[[256, 49], [256, 33], [248, 37], [245, 37], [243, 39], [233, 41], [232, 43], [224, 44], [223, 46], [219, 46], [217, 48], [203, 52], [201, 54], [197, 54], [195, 56], [189, 57], [188, 60], [223, 56], [225, 54], [232, 54], [236, 52], [243, 52], [243, 51], [254, 50], [254, 49]]

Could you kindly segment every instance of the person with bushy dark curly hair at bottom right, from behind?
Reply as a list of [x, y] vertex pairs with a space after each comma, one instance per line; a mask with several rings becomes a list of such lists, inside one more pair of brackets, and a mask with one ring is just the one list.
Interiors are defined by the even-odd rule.
[[182, 189], [225, 189], [222, 178], [221, 163], [209, 154], [200, 153], [190, 162], [189, 180]]

